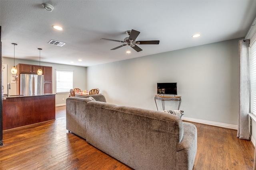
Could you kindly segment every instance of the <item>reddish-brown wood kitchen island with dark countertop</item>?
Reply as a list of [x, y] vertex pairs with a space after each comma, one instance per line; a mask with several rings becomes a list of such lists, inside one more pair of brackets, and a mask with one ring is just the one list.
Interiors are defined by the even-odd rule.
[[55, 94], [3, 99], [3, 130], [55, 119]]

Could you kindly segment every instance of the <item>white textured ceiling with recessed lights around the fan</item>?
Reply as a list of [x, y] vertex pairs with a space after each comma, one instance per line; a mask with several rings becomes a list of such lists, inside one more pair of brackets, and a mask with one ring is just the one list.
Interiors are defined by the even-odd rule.
[[[44, 10], [42, 3], [54, 6]], [[0, 0], [2, 56], [77, 66], [132, 59], [244, 37], [256, 16], [255, 0]], [[57, 31], [52, 25], [60, 25]], [[119, 42], [127, 30], [140, 31], [136, 52]], [[200, 33], [198, 38], [192, 38]], [[48, 44], [51, 40], [63, 47]], [[132, 53], [126, 54], [130, 49]], [[78, 61], [82, 59], [82, 61]], [[73, 61], [74, 63], [70, 63]]]

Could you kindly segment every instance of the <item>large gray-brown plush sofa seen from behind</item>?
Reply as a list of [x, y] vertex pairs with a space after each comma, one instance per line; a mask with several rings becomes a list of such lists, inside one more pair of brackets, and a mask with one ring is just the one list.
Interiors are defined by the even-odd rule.
[[194, 165], [196, 127], [170, 113], [116, 106], [101, 94], [70, 97], [66, 128], [135, 170], [192, 170]]

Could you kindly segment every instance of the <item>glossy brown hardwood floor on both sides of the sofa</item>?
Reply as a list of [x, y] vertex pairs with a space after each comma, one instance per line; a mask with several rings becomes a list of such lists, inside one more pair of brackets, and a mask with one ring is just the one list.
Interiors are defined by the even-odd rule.
[[[254, 146], [236, 130], [193, 123], [198, 131], [194, 170], [252, 170]], [[3, 132], [0, 170], [130, 170], [66, 130], [66, 107], [56, 120]]]

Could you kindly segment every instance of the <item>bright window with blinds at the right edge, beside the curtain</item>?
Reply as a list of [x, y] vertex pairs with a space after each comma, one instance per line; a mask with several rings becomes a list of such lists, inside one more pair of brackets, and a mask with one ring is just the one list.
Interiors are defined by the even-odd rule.
[[251, 113], [256, 114], [256, 42], [249, 48], [250, 57], [250, 105]]

